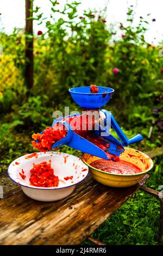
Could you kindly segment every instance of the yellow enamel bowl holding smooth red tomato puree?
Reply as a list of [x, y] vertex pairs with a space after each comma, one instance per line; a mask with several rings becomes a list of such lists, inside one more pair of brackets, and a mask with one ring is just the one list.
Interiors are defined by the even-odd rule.
[[102, 170], [98, 170], [92, 167], [90, 164], [93, 161], [99, 160], [100, 158], [97, 156], [84, 154], [83, 162], [89, 166], [90, 174], [93, 179], [97, 180], [99, 183], [102, 183], [106, 186], [110, 187], [130, 187], [138, 183], [145, 173], [149, 172], [149, 170], [153, 167], [152, 159], [141, 151], [126, 148], [124, 152], [120, 155], [120, 160], [133, 163], [135, 166], [139, 167], [142, 172], [136, 174], [115, 174], [115, 173], [107, 173]]

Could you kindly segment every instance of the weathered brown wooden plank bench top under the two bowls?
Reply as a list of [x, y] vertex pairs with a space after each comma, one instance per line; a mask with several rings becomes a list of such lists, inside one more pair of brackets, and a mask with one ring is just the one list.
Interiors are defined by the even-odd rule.
[[1, 245], [77, 245], [132, 196], [149, 175], [128, 188], [111, 188], [88, 176], [58, 202], [28, 198], [20, 188], [0, 200]]

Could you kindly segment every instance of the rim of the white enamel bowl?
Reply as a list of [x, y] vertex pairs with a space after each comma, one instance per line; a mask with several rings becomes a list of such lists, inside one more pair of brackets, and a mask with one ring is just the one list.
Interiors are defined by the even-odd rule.
[[[66, 156], [74, 156], [74, 155], [71, 155], [71, 154], [67, 154], [67, 153], [64, 153], [64, 152], [55, 152], [55, 151], [47, 151], [46, 153], [44, 153], [44, 152], [34, 152], [34, 153], [37, 153], [37, 155], [41, 155], [42, 153], [43, 153], [43, 155], [46, 155], [46, 154], [54, 154], [54, 155], [62, 155], [62, 154], [64, 154], [64, 155], [66, 155]], [[76, 157], [77, 159], [80, 159], [84, 164], [85, 164], [85, 169], [87, 169], [87, 174], [86, 174], [86, 176], [84, 176], [84, 177], [82, 177], [82, 179], [80, 180], [80, 181], [78, 181], [78, 182], [75, 182], [75, 183], [73, 183], [72, 185], [68, 185], [68, 186], [64, 186], [64, 187], [35, 187], [35, 186], [30, 186], [30, 185], [24, 185], [24, 184], [22, 184], [21, 182], [17, 182], [17, 181], [15, 181], [13, 178], [11, 178], [11, 175], [9, 174], [9, 168], [10, 168], [10, 166], [11, 166], [11, 164], [13, 164], [13, 163], [15, 163], [15, 161], [17, 162], [18, 160], [21, 160], [21, 159], [23, 159], [23, 157], [27, 157], [27, 156], [29, 156], [29, 155], [32, 155], [32, 154], [34, 154], [34, 153], [30, 153], [30, 154], [27, 154], [27, 155], [23, 155], [23, 156], [20, 156], [20, 157], [18, 157], [17, 159], [15, 159], [14, 161], [12, 161], [11, 163], [10, 163], [10, 165], [9, 165], [9, 167], [8, 167], [8, 176], [9, 176], [9, 178], [12, 180], [12, 181], [14, 181], [16, 184], [18, 184], [18, 185], [20, 185], [20, 186], [23, 186], [23, 187], [28, 187], [28, 188], [33, 188], [33, 189], [36, 189], [36, 190], [62, 190], [63, 188], [67, 188], [67, 187], [72, 187], [72, 186], [74, 186], [74, 185], [77, 185], [79, 182], [81, 182], [81, 181], [83, 181], [86, 177], [87, 177], [87, 175], [89, 174], [89, 167], [82, 161], [82, 159], [80, 159], [79, 157], [77, 157], [77, 156], [74, 156], [74, 157]]]

